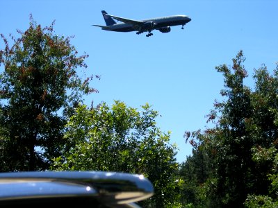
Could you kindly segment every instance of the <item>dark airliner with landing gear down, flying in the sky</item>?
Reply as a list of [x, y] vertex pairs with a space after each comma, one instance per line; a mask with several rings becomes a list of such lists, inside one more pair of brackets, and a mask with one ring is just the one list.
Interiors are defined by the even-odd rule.
[[[146, 37], [154, 35], [152, 33], [152, 31], [154, 30], [158, 30], [161, 33], [169, 33], [171, 31], [170, 26], [181, 25], [181, 29], [183, 29], [183, 26], [185, 26], [189, 21], [191, 21], [190, 17], [188, 17], [187, 15], [173, 15], [169, 17], [158, 17], [154, 19], [145, 19], [138, 21], [133, 19], [126, 19], [123, 17], [117, 17], [114, 15], [108, 15], [108, 13], [105, 10], [102, 10], [101, 13], [104, 16], [106, 26], [101, 26], [97, 24], [93, 24], [92, 26], [100, 27], [104, 31], [137, 31], [137, 35], [144, 32], [148, 32]], [[114, 19], [116, 19], [117, 21], [122, 21], [122, 23], [116, 23]]]

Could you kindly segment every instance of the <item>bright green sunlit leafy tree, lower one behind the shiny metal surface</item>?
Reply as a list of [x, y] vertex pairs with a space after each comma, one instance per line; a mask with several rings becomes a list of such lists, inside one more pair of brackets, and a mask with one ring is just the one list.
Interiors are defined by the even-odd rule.
[[179, 202], [181, 180], [170, 144], [170, 132], [156, 127], [158, 112], [148, 104], [142, 111], [115, 101], [88, 109], [80, 105], [67, 123], [63, 157], [54, 159], [54, 170], [117, 171], [145, 175], [155, 193], [147, 207], [170, 207]]

